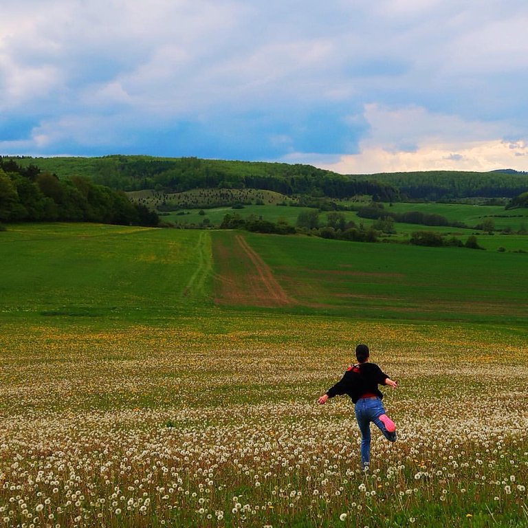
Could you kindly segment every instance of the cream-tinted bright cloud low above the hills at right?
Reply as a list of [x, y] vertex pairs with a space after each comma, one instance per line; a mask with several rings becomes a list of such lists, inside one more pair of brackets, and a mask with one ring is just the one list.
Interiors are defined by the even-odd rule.
[[503, 140], [503, 122], [470, 122], [420, 107], [376, 104], [366, 105], [365, 118], [371, 129], [360, 141], [359, 152], [318, 166], [342, 174], [528, 167], [527, 142]]

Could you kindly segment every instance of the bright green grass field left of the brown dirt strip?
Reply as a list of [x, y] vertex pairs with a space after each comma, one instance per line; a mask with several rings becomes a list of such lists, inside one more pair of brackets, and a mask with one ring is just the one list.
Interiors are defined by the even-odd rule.
[[208, 303], [208, 232], [13, 225], [0, 238], [3, 311], [95, 316]]

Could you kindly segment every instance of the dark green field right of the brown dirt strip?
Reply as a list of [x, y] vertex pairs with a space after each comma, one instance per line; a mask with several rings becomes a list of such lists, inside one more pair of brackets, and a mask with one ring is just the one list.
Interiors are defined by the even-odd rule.
[[[376, 318], [522, 320], [527, 256], [248, 234], [301, 305]], [[316, 308], [314, 308], [316, 309]]]

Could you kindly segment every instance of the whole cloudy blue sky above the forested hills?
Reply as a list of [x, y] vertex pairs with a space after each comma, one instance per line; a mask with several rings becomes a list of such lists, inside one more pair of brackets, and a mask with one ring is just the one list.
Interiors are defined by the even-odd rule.
[[17, 0], [0, 155], [528, 170], [526, 0]]

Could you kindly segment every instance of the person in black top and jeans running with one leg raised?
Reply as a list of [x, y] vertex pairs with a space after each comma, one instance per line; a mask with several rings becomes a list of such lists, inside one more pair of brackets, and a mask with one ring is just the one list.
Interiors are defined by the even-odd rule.
[[348, 394], [355, 404], [355, 419], [361, 431], [361, 467], [364, 469], [371, 460], [371, 421], [380, 429], [388, 441], [396, 440], [396, 426], [385, 414], [383, 395], [378, 385], [397, 387], [397, 383], [382, 372], [379, 366], [369, 362], [369, 347], [358, 344], [355, 357], [358, 364], [351, 365], [343, 377], [326, 394], [318, 399], [320, 405], [327, 399]]

